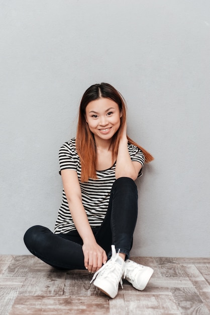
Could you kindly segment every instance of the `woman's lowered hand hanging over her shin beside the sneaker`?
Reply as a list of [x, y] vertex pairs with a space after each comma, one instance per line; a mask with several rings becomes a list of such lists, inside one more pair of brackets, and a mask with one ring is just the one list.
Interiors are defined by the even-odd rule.
[[96, 242], [85, 242], [82, 246], [84, 266], [89, 272], [95, 272], [107, 262], [106, 252]]

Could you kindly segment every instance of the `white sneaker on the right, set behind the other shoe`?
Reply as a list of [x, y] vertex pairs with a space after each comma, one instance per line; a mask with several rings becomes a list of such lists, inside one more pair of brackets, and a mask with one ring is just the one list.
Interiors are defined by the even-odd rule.
[[153, 271], [150, 267], [142, 266], [128, 259], [125, 262], [124, 279], [129, 281], [137, 290], [144, 290]]

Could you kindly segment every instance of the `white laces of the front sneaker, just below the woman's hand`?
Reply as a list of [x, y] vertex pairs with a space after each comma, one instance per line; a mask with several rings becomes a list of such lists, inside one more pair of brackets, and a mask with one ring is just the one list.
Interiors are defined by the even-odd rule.
[[[116, 262], [116, 260], [118, 259], [118, 256], [119, 255], [117, 254], [114, 258], [111, 258], [110, 261], [108, 261], [98, 271], [96, 271], [90, 283], [92, 283], [92, 281], [96, 278], [99, 272], [102, 272], [105, 276], [107, 275], [110, 276], [111, 272], [113, 271], [112, 276], [110, 276], [110, 280], [113, 282], [116, 282], [116, 281], [119, 281], [119, 278], [120, 278], [120, 284], [123, 288], [123, 280], [121, 277], [120, 265]], [[116, 274], [116, 271], [117, 271], [117, 274]]]

